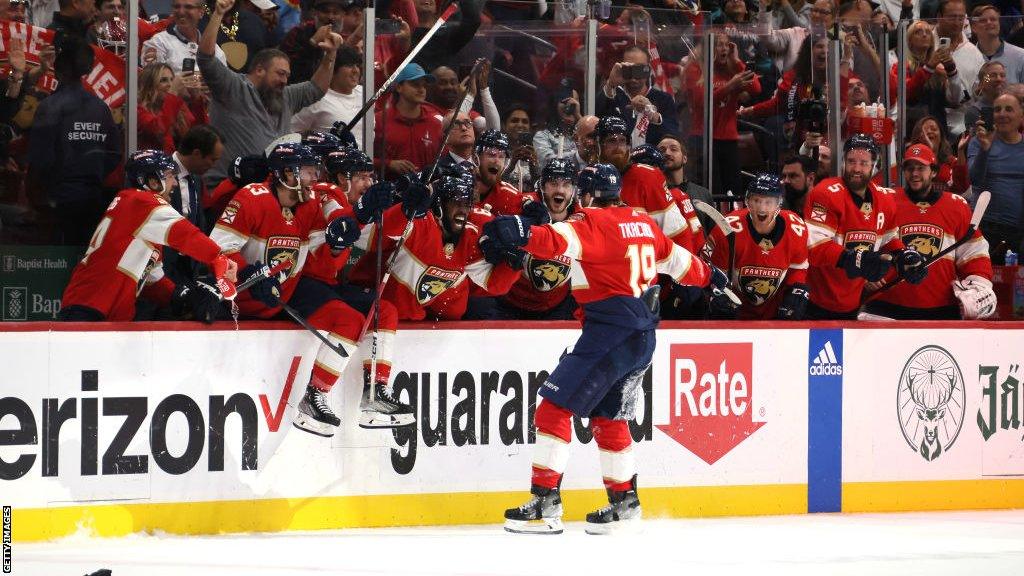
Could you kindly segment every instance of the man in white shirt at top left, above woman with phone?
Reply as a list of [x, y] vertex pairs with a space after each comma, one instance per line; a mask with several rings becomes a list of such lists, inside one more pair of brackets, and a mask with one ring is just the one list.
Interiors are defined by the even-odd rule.
[[[142, 64], [166, 64], [174, 74], [195, 72], [200, 40], [199, 20], [205, 7], [205, 0], [174, 0], [170, 26], [142, 43]], [[214, 57], [220, 64], [227, 64], [220, 46], [215, 46]]]

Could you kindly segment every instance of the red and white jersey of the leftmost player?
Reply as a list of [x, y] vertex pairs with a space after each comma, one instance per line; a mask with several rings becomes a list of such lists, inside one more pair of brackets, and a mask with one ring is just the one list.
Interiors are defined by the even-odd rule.
[[174, 289], [160, 261], [164, 246], [206, 263], [220, 254], [217, 244], [163, 198], [143, 190], [121, 191], [72, 272], [60, 305], [88, 306], [111, 322], [130, 321], [146, 284], [167, 284], [165, 296]]

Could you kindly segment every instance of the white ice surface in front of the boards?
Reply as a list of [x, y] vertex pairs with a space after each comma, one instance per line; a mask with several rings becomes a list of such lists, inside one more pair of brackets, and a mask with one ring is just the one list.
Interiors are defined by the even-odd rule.
[[505, 533], [501, 526], [15, 544], [13, 574], [1024, 575], [1024, 510], [646, 520], [637, 534]]

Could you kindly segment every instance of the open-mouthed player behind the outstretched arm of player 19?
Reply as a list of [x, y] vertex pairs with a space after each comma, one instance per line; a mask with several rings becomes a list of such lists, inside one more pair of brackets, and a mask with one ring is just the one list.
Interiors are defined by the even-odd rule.
[[[561, 222], [577, 209], [575, 180], [579, 169], [567, 158], [553, 158], [541, 171], [541, 195], [545, 221]], [[536, 203], [530, 203], [534, 206]], [[526, 210], [531, 212], [529, 208]], [[510, 263], [521, 269], [519, 280], [498, 300], [496, 318], [502, 320], [572, 320], [575, 299], [569, 293], [572, 260], [535, 258], [521, 250]]]

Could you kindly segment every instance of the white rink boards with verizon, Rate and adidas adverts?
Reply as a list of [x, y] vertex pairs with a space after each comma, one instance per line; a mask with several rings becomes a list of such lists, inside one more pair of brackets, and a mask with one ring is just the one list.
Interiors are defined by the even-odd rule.
[[[275, 323], [5, 324], [0, 504], [15, 540], [497, 523], [571, 323], [411, 325], [415, 428], [291, 426], [316, 340]], [[98, 328], [98, 329], [97, 329]], [[1024, 507], [1024, 324], [666, 323], [631, 422], [647, 517]], [[566, 515], [603, 501], [586, 420]]]

